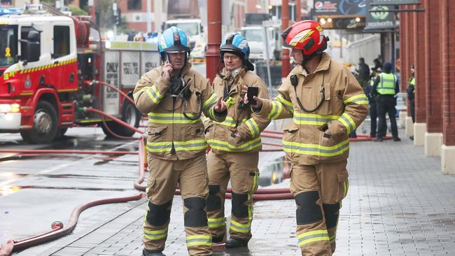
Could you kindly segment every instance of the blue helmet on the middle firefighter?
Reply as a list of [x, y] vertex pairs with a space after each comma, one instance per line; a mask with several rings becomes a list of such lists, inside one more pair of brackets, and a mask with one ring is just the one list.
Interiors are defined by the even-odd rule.
[[243, 60], [246, 68], [253, 71], [254, 66], [251, 64], [250, 57], [250, 47], [248, 46], [248, 41], [241, 34], [228, 34], [220, 45], [220, 56], [223, 58], [225, 52], [238, 55]]

